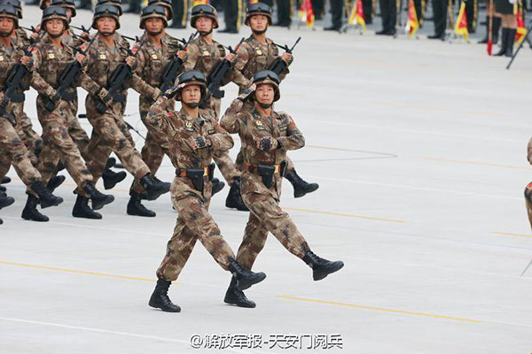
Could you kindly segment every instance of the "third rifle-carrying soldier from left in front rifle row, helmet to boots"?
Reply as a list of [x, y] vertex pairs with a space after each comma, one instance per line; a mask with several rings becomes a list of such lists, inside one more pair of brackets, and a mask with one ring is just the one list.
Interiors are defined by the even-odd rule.
[[[99, 86], [108, 88], [109, 80], [115, 70], [119, 66], [125, 68], [124, 64], [129, 67], [133, 66], [135, 58], [129, 56], [128, 48], [124, 47], [123, 42], [115, 35], [115, 30], [120, 28], [119, 12], [116, 7], [97, 6], [92, 27], [98, 30], [96, 34], [98, 38], [87, 52], [85, 71]], [[132, 69], [129, 68], [129, 70]], [[135, 149], [135, 143], [123, 119], [123, 112], [126, 105], [127, 86], [141, 95], [153, 98], [159, 96], [160, 92], [159, 89], [153, 89], [146, 84], [136, 73], [130, 74], [129, 80], [125, 81], [124, 85], [126, 87], [122, 86], [113, 96], [108, 95], [102, 99], [99, 96], [89, 95], [85, 99], [87, 118], [97, 133], [90, 138], [87, 150], [92, 158], [87, 165], [96, 184], [106, 167], [109, 154], [113, 151], [121, 159], [126, 170], [140, 179], [147, 191], [148, 200], [154, 200], [168, 192], [168, 186], [153, 178], [150, 168]], [[106, 101], [111, 102], [103, 104]], [[86, 204], [87, 200], [82, 200], [82, 203]]]

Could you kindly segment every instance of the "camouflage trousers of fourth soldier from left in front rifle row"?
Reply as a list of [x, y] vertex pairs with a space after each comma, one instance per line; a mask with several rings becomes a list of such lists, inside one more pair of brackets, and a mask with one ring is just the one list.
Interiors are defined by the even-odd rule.
[[[174, 106], [172, 102], [172, 107]], [[166, 138], [164, 136], [161, 136], [160, 133], [155, 131], [152, 127], [150, 127], [148, 124], [146, 124], [146, 116], [148, 114], [148, 111], [141, 111], [140, 112], [140, 119], [142, 119], [142, 122], [144, 123], [145, 127], [148, 128], [148, 133], [146, 134], [146, 140], [145, 144], [142, 147], [142, 150], [140, 150], [140, 155], [145, 162], [145, 164], [150, 169], [150, 173], [154, 176], [155, 173], [159, 170], [160, 165], [162, 164], [162, 158], [164, 158], [164, 155], [166, 154], [169, 156], [168, 152], [168, 145], [166, 142]], [[140, 184], [139, 179], [135, 179], [133, 181], [133, 184], [131, 185], [131, 189], [129, 191], [129, 194], [131, 192], [135, 192], [137, 194], [144, 194], [145, 189]]]

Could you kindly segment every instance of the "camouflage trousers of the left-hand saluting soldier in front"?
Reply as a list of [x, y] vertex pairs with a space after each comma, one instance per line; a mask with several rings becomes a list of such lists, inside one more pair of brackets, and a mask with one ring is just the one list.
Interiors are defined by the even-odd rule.
[[[176, 281], [198, 239], [224, 270], [228, 269], [229, 259], [235, 258], [231, 247], [220, 233], [213, 217], [208, 213], [209, 196], [200, 198], [193, 193], [178, 193], [178, 178], [172, 183], [172, 203], [178, 212], [174, 235], [168, 241], [167, 252], [157, 269], [157, 278]], [[210, 183], [206, 184], [212, 189]]]

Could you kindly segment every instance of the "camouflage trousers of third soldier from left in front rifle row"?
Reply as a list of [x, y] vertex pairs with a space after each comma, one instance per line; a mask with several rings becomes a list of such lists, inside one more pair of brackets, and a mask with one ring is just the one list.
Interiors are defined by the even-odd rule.
[[113, 107], [103, 114], [96, 109], [96, 103], [92, 97], [87, 96], [85, 105], [87, 117], [93, 127], [93, 134], [87, 147], [87, 154], [90, 156], [90, 162], [87, 165], [94, 183], [104, 172], [111, 152], [120, 158], [122, 165], [135, 177], [142, 178], [150, 173], [150, 169], [135, 149], [133, 138], [123, 120], [121, 113], [123, 104], [114, 103]]

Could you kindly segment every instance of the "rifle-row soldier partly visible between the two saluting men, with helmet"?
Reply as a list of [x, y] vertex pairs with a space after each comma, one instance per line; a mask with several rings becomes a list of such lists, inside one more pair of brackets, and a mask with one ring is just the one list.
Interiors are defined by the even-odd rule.
[[[200, 4], [192, 8], [191, 27], [196, 28], [200, 34], [198, 38], [193, 40], [185, 52], [180, 51], [178, 55], [184, 58], [184, 70], [197, 70], [203, 73], [206, 77], [215, 69], [223, 59], [234, 62], [236, 56], [232, 53], [225, 55], [225, 49], [219, 42], [213, 40], [213, 29], [218, 27], [218, 14], [214, 7], [210, 5]], [[231, 70], [227, 81], [233, 81], [239, 86], [244, 86], [249, 83], [238, 70]], [[216, 118], [220, 117], [221, 99], [211, 96], [207, 103], [206, 109], [212, 110]], [[247, 211], [246, 204], [242, 202], [240, 196], [240, 173], [235, 168], [227, 151], [216, 152], [215, 162], [223, 174], [223, 178], [231, 186], [231, 190], [225, 205], [228, 208], [236, 208], [239, 211]]]

